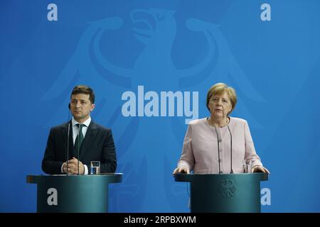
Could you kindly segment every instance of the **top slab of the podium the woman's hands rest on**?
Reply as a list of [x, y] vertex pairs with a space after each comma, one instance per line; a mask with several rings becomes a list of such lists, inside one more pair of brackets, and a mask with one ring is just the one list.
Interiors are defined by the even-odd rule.
[[256, 181], [267, 181], [268, 174], [263, 172], [255, 173], [238, 173], [238, 174], [176, 174], [174, 180], [176, 182], [196, 182], [198, 180], [217, 180], [217, 179], [252, 179]]

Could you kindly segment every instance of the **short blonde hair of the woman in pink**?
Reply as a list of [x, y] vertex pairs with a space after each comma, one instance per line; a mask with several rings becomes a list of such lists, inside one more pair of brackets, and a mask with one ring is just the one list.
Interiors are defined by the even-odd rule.
[[212, 96], [215, 95], [220, 95], [223, 94], [223, 92], [227, 92], [231, 105], [232, 105], [232, 109], [230, 110], [230, 112], [228, 113], [228, 115], [235, 109], [235, 104], [237, 104], [237, 94], [235, 93], [235, 89], [233, 89], [233, 87], [228, 87], [227, 84], [223, 84], [223, 83], [218, 83], [218, 84], [214, 84], [212, 87], [210, 87], [210, 89], [208, 90], [208, 94], [207, 94], [207, 108], [209, 109], [209, 101], [211, 99]]

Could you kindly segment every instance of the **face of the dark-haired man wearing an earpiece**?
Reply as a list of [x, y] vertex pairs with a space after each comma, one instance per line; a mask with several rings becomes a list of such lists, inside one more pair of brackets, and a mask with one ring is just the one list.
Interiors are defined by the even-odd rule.
[[90, 112], [95, 109], [95, 104], [91, 104], [89, 94], [73, 94], [70, 101], [70, 110], [75, 121], [82, 123], [90, 116]]

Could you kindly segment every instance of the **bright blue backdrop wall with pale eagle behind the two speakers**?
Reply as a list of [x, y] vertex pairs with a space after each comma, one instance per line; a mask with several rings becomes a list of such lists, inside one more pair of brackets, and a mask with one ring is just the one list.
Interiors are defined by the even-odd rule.
[[[70, 90], [87, 84], [97, 96], [92, 118], [112, 128], [124, 173], [110, 189], [110, 211], [188, 212], [187, 185], [171, 172], [186, 121], [208, 116], [216, 82], [238, 92], [232, 116], [247, 119], [272, 172], [262, 211], [320, 211], [320, 1], [0, 6], [0, 211], [36, 211], [26, 175], [43, 174], [50, 127], [68, 121]], [[169, 92], [175, 104], [161, 104]]]

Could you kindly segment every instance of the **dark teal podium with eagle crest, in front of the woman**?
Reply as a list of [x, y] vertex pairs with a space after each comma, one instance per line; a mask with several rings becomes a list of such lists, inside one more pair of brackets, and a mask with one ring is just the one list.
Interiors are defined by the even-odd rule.
[[191, 213], [260, 213], [260, 181], [266, 173], [174, 175], [191, 183]]

